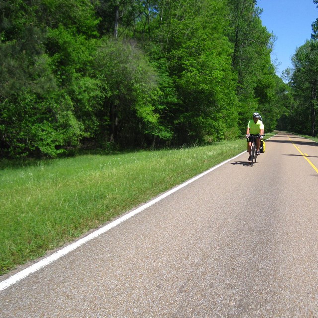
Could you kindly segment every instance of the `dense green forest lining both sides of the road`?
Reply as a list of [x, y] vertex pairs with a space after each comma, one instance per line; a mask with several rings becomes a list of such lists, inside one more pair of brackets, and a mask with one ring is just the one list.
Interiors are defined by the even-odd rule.
[[317, 134], [318, 21], [284, 82], [260, 16], [256, 0], [1, 0], [1, 155], [208, 144], [254, 111]]

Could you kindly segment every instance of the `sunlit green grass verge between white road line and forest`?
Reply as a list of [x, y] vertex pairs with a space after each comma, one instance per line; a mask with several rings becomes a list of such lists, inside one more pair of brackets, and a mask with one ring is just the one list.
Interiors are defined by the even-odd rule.
[[0, 274], [245, 149], [242, 139], [179, 150], [82, 155], [0, 170]]

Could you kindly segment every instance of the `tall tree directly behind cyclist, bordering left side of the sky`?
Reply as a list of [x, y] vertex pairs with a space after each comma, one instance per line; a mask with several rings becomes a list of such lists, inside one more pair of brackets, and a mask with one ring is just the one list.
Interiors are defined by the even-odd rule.
[[275, 83], [270, 60], [274, 37], [262, 26], [261, 10], [254, 0], [228, 0], [229, 39], [233, 44], [232, 65], [237, 75], [241, 132], [254, 111], [271, 114]]

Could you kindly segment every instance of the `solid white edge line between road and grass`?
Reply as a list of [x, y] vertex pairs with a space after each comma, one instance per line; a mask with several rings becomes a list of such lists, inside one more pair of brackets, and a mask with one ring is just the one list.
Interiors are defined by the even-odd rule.
[[141, 211], [143, 211], [143, 210], [149, 208], [149, 207], [152, 206], [153, 204], [155, 204], [155, 203], [159, 202], [160, 200], [166, 198], [166, 197], [169, 196], [170, 194], [172, 194], [172, 193], [174, 193], [174, 192], [180, 190], [181, 188], [183, 188], [183, 187], [187, 186], [188, 184], [192, 183], [193, 181], [196, 181], [196, 180], [198, 180], [199, 178], [203, 177], [204, 175], [210, 173], [211, 171], [213, 171], [213, 170], [219, 168], [221, 165], [223, 165], [223, 164], [225, 164], [225, 163], [227, 163], [227, 162], [229, 162], [229, 161], [231, 161], [231, 160], [233, 160], [233, 159], [239, 157], [240, 155], [244, 154], [245, 152], [246, 152], [246, 151], [243, 151], [243, 152], [240, 153], [239, 155], [236, 155], [236, 156], [234, 156], [234, 157], [232, 157], [232, 158], [230, 158], [230, 159], [228, 159], [228, 160], [226, 160], [226, 161], [223, 161], [223, 162], [219, 163], [218, 165], [214, 166], [213, 168], [211, 168], [211, 169], [209, 169], [209, 170], [207, 170], [207, 171], [205, 171], [205, 172], [202, 172], [201, 174], [195, 176], [194, 178], [192, 178], [192, 179], [190, 179], [190, 180], [188, 180], [188, 181], [186, 181], [186, 182], [180, 184], [179, 186], [176, 186], [175, 188], [169, 190], [168, 192], [163, 193], [163, 194], [160, 195], [159, 197], [157, 197], [157, 198], [155, 198], [155, 199], [149, 201], [148, 203], [145, 203], [144, 205], [140, 206], [139, 208], [137, 208], [137, 209], [135, 209], [135, 210], [133, 210], [133, 211], [131, 211], [131, 212], [129, 212], [129, 213], [123, 215], [123, 216], [120, 217], [119, 219], [117, 219], [117, 220], [115, 220], [115, 221], [113, 221], [113, 222], [111, 222], [111, 223], [105, 225], [104, 227], [102, 227], [102, 228], [100, 228], [100, 229], [94, 231], [93, 233], [87, 235], [86, 237], [84, 237], [84, 238], [82, 238], [82, 239], [79, 239], [78, 241], [76, 241], [76, 242], [74, 242], [74, 243], [71, 243], [70, 245], [68, 245], [68, 246], [66, 246], [66, 247], [64, 247], [64, 248], [62, 248], [61, 250], [55, 252], [54, 254], [52, 254], [52, 255], [50, 255], [50, 256], [48, 256], [48, 257], [46, 257], [46, 258], [44, 258], [44, 259], [38, 261], [37, 263], [35, 263], [35, 264], [33, 264], [33, 265], [31, 265], [31, 266], [29, 266], [29, 267], [23, 269], [22, 271], [18, 272], [17, 274], [15, 274], [15, 275], [9, 277], [8, 279], [2, 281], [2, 282], [0, 283], [0, 291], [2, 291], [2, 290], [4, 290], [4, 289], [8, 288], [9, 286], [11, 286], [11, 285], [17, 283], [17, 282], [20, 281], [21, 279], [23, 279], [23, 278], [29, 276], [30, 274], [32, 274], [32, 273], [36, 272], [37, 270], [39, 270], [39, 269], [45, 267], [46, 265], [49, 265], [50, 263], [52, 263], [52, 262], [58, 260], [60, 257], [62, 257], [62, 256], [64, 256], [64, 255], [68, 254], [69, 252], [75, 250], [75, 249], [78, 248], [79, 246], [81, 246], [81, 245], [83, 245], [83, 244], [89, 242], [90, 240], [92, 240], [92, 239], [98, 237], [99, 235], [101, 235], [101, 234], [107, 232], [108, 230], [114, 228], [114, 227], [117, 226], [118, 224], [120, 224], [120, 223], [126, 221], [127, 219], [131, 218], [132, 216], [138, 214], [139, 212], [141, 212]]

